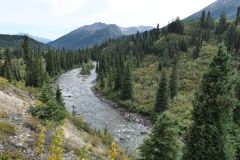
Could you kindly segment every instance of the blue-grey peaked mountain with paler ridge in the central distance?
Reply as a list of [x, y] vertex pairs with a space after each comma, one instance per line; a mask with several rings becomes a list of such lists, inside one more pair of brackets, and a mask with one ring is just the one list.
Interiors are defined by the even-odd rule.
[[115, 24], [99, 22], [80, 27], [48, 44], [55, 48], [87, 48], [96, 44], [101, 44], [108, 39], [118, 38], [123, 35], [136, 34], [137, 31], [143, 32], [149, 29], [152, 29], [152, 27], [139, 26], [123, 28]]

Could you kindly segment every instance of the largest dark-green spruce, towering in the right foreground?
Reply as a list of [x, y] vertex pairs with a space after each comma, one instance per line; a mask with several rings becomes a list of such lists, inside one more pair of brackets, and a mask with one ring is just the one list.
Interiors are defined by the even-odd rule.
[[185, 159], [235, 159], [235, 144], [230, 134], [236, 106], [232, 78], [232, 58], [220, 45], [193, 104], [193, 126]]

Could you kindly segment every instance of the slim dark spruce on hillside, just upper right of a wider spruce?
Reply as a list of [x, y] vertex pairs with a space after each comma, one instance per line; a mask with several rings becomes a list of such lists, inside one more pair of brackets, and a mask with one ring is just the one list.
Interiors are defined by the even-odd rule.
[[177, 73], [176, 63], [173, 65], [173, 68], [172, 68], [169, 88], [170, 88], [171, 99], [173, 99], [177, 95], [177, 89], [178, 89], [178, 73]]

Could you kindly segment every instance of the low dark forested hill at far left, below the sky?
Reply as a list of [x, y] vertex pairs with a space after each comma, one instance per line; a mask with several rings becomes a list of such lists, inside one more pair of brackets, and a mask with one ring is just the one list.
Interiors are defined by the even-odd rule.
[[[20, 48], [22, 47], [23, 39], [23, 35], [0, 34], [0, 48]], [[29, 45], [30, 48], [41, 48], [43, 50], [52, 48], [51, 46], [38, 42], [32, 38], [29, 38]]]

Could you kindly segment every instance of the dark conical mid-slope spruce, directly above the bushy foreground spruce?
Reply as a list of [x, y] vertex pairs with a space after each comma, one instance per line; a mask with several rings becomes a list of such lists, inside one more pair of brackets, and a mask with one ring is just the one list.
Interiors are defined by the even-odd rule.
[[168, 108], [169, 91], [168, 82], [165, 71], [162, 72], [161, 80], [158, 86], [158, 93], [155, 104], [155, 111], [158, 113], [164, 112]]

